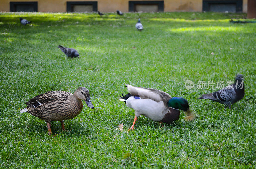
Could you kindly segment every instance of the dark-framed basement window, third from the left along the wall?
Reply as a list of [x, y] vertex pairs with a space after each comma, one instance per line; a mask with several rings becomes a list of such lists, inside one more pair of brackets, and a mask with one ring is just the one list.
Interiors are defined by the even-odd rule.
[[129, 1], [129, 12], [163, 12], [164, 1]]

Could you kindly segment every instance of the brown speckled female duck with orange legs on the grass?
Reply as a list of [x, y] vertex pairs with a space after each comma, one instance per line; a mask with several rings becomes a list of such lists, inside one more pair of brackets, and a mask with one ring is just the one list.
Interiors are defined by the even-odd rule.
[[48, 134], [51, 131], [51, 121], [60, 121], [62, 130], [65, 130], [63, 120], [73, 119], [83, 109], [84, 100], [88, 107], [94, 108], [90, 100], [89, 90], [79, 87], [74, 94], [65, 91], [48, 91], [39, 94], [24, 103], [28, 105], [20, 112], [28, 112], [47, 122]]

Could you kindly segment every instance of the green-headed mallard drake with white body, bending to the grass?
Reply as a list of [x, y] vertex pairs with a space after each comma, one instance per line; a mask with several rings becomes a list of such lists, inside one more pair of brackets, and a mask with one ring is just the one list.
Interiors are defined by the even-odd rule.
[[[189, 110], [188, 101], [182, 97], [172, 98], [168, 93], [143, 87], [127, 85], [129, 93], [119, 98], [127, 107], [134, 109], [135, 117], [131, 129], [140, 115], [154, 121], [172, 123], [180, 118], [180, 110], [186, 111], [185, 119], [191, 121], [195, 115]], [[180, 110], [178, 110], [180, 109]], [[130, 129], [129, 129], [130, 130]]]

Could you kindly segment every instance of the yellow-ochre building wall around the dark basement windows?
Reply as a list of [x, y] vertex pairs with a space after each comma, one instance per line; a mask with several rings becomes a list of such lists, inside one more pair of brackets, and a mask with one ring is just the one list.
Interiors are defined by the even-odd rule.
[[[36, 0], [0, 0], [0, 11], [9, 12], [11, 2]], [[79, 0], [37, 0], [38, 12], [66, 12], [67, 1]], [[128, 12], [129, 0], [97, 0], [98, 10], [101, 12]], [[164, 0], [164, 12], [202, 12], [202, 0]], [[243, 12], [247, 12], [247, 0], [243, 0]]]

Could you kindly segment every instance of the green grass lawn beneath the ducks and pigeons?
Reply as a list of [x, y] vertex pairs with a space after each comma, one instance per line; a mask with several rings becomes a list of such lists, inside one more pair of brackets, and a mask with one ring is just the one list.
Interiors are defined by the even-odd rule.
[[[256, 165], [256, 24], [231, 24], [245, 14], [0, 13], [0, 168], [254, 168]], [[19, 18], [31, 20], [23, 26]], [[135, 23], [141, 18], [142, 32]], [[66, 59], [58, 45], [75, 48]], [[199, 81], [245, 78], [233, 109], [197, 99], [214, 88]], [[119, 101], [125, 84], [188, 100], [198, 115], [161, 127]], [[49, 90], [89, 89], [95, 109], [47, 126], [24, 102]], [[124, 131], [115, 129], [124, 123]], [[131, 158], [124, 158], [132, 153]]]

